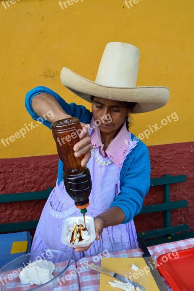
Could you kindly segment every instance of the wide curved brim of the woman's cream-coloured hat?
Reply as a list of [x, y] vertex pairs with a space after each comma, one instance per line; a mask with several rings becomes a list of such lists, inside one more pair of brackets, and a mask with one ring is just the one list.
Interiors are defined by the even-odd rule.
[[109, 87], [85, 79], [70, 69], [63, 67], [61, 71], [62, 84], [70, 91], [88, 102], [91, 96], [110, 100], [137, 102], [132, 113], [144, 113], [163, 107], [169, 100], [167, 87]]

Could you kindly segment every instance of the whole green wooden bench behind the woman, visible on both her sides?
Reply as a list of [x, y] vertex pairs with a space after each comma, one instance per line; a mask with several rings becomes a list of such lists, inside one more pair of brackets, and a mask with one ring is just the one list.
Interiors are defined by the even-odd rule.
[[[170, 184], [185, 182], [186, 176], [169, 176], [167, 174], [162, 178], [151, 179], [151, 187], [163, 185], [163, 203], [143, 206], [140, 214], [152, 213], [163, 211], [163, 228], [148, 230], [138, 233], [138, 237], [143, 238], [148, 246], [160, 244], [163, 242], [174, 242], [187, 238], [194, 237], [194, 231], [188, 231], [190, 227], [187, 224], [178, 226], [171, 226], [171, 214], [170, 211], [187, 207], [187, 200], [170, 201]], [[29, 192], [29, 193], [16, 193], [16, 194], [1, 194], [0, 203], [16, 202], [16, 201], [31, 201], [39, 199], [47, 199], [52, 188], [48, 188], [46, 191]], [[25, 221], [17, 223], [0, 224], [0, 232], [12, 232], [35, 229], [38, 224], [38, 220]], [[183, 232], [187, 231], [187, 232]], [[183, 232], [183, 233], [179, 233]], [[178, 234], [179, 233], [179, 234]]]

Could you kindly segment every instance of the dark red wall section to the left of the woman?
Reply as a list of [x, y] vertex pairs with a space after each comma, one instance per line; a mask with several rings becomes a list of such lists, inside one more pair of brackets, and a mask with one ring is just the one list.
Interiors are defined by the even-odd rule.
[[[58, 156], [0, 160], [0, 194], [23, 193], [54, 188]], [[46, 200], [0, 204], [0, 224], [39, 219]]]

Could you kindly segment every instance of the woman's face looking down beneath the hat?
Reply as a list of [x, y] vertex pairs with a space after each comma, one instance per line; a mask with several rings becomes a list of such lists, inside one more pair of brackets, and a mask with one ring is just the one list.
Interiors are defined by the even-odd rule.
[[125, 107], [124, 102], [94, 97], [92, 112], [94, 120], [99, 120], [97, 125], [99, 124], [101, 132], [116, 133], [125, 122], [130, 109]]

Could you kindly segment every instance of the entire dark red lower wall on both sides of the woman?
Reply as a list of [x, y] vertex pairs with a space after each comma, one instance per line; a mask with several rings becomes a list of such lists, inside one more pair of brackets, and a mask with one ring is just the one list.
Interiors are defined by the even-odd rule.
[[[187, 223], [194, 230], [194, 143], [149, 146], [151, 178], [163, 174], [187, 176], [187, 181], [170, 186], [171, 201], [188, 200], [188, 208], [172, 210], [172, 225]], [[56, 155], [1, 159], [0, 194], [46, 190], [54, 187], [57, 178]], [[162, 187], [152, 187], [146, 195], [146, 204], [162, 202]], [[0, 205], [0, 223], [36, 220], [45, 200], [3, 203]], [[137, 231], [162, 227], [162, 212], [135, 217]]]

